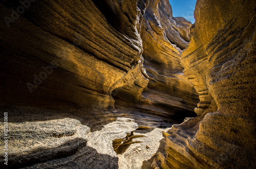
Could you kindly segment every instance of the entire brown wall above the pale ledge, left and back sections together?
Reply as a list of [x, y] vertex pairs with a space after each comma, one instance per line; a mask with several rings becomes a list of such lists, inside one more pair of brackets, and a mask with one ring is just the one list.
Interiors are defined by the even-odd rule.
[[47, 109], [56, 113], [43, 119], [65, 112], [90, 126], [126, 114], [164, 127], [196, 115], [198, 95], [180, 64], [190, 22], [173, 17], [168, 1], [24, 6], [1, 3], [0, 99], [13, 122], [40, 119]]

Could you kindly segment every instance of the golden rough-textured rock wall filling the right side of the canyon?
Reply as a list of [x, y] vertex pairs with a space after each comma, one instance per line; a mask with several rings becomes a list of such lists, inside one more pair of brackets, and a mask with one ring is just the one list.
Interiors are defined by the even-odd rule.
[[200, 94], [198, 116], [174, 125], [162, 168], [255, 168], [254, 1], [197, 2], [181, 63]]

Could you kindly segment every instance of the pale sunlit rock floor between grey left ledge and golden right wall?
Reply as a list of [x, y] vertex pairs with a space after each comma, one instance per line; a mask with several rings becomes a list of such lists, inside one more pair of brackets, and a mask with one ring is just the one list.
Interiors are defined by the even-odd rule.
[[[162, 132], [167, 129], [139, 126], [132, 132], [130, 139], [119, 147], [118, 166], [126, 168], [149, 168], [145, 166], [146, 160], [151, 159], [159, 148], [159, 140], [163, 138]], [[150, 149], [147, 149], [150, 147]], [[151, 163], [149, 164], [151, 165]]]

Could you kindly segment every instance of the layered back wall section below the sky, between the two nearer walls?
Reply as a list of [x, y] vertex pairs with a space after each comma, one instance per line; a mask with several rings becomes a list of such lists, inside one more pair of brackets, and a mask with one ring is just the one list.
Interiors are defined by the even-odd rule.
[[138, 10], [144, 16], [140, 30], [142, 72], [148, 83], [140, 78], [118, 88], [113, 93], [115, 108], [139, 124], [167, 127], [182, 122], [185, 116], [196, 115], [198, 95], [185, 78], [180, 61], [182, 50], [188, 45], [191, 23], [173, 17], [167, 0], [139, 1]]

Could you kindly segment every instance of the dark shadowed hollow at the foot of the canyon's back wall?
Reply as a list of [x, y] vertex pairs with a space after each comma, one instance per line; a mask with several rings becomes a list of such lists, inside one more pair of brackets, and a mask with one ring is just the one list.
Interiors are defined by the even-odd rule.
[[[129, 106], [129, 107], [128, 107]], [[141, 106], [116, 100], [115, 109], [133, 118], [139, 126], [169, 128], [183, 123], [185, 117], [196, 117], [195, 112], [167, 105]]]

